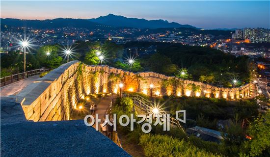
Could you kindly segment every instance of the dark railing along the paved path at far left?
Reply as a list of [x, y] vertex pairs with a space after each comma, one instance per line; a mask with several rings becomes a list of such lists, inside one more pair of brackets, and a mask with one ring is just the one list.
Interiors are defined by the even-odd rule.
[[23, 72], [23, 73], [18, 73], [18, 74], [14, 74], [14, 75], [10, 75], [7, 77], [3, 77], [0, 78], [0, 87], [3, 87], [5, 85], [8, 85], [10, 83], [13, 82], [17, 82], [19, 80], [25, 79], [25, 78], [29, 78], [35, 75], [40, 75], [43, 72], [48, 72], [51, 71], [53, 69], [35, 69], [35, 70], [30, 70], [27, 72]]

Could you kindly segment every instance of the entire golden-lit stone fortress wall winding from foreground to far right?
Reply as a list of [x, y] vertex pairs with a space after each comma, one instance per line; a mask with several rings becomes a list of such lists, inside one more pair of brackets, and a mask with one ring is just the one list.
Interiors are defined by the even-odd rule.
[[[27, 120], [70, 120], [70, 114], [77, 108], [80, 98], [102, 92], [119, 93], [120, 82], [124, 84], [123, 91], [144, 94], [150, 93], [150, 84], [153, 84], [152, 92], [156, 96], [205, 95], [230, 99], [250, 96], [250, 84], [239, 88], [219, 88], [154, 72], [132, 73], [107, 65], [93, 66], [71, 61], [28, 85], [16, 95], [16, 101], [21, 103]], [[193, 91], [190, 84], [199, 88]]]

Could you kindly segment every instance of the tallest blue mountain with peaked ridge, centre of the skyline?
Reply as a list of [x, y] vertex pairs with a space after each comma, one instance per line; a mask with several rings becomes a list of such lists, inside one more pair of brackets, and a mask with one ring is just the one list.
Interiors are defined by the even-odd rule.
[[127, 18], [124, 16], [108, 14], [107, 16], [101, 16], [96, 19], [89, 19], [91, 22], [100, 23], [109, 26], [116, 27], [135, 27], [135, 28], [178, 28], [178, 27], [187, 27], [187, 28], [196, 28], [190, 25], [181, 25], [178, 23], [169, 23], [164, 20], [145, 20], [137, 18]]

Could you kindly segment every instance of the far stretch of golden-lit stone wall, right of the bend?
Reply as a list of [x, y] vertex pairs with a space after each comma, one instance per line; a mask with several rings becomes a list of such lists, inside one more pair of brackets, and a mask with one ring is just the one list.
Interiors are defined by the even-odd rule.
[[[225, 98], [225, 99], [238, 99], [246, 98], [251, 95], [250, 84], [238, 88], [223, 88], [216, 87], [210, 84], [205, 84], [202, 82], [183, 80], [176, 77], [168, 77], [162, 74], [154, 72], [139, 72], [132, 73], [128, 71], [123, 71], [117, 68], [111, 68], [108, 66], [85, 66], [87, 72], [102, 72], [99, 74], [99, 78], [96, 82], [96, 87], [103, 87], [103, 89], [108, 88], [110, 84], [110, 79], [108, 76], [110, 73], [121, 75], [121, 79], [114, 83], [114, 90], [96, 90], [98, 92], [108, 92], [117, 93], [119, 92], [119, 87], [117, 86], [120, 82], [124, 83], [124, 91], [134, 91], [139, 93], [150, 94], [150, 84], [153, 84], [152, 93], [153, 95], [163, 96], [163, 95], [175, 95], [175, 96], [206, 96], [213, 98]], [[88, 74], [84, 74], [88, 75]], [[140, 76], [140, 77], [138, 77]], [[191, 84], [198, 86], [199, 88], [194, 91], [189, 88]]]

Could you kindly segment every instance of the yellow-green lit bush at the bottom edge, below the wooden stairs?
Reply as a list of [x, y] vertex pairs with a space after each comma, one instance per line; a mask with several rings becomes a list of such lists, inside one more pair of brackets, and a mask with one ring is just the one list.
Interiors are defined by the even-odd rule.
[[143, 134], [139, 144], [146, 157], [221, 157], [167, 135]]

